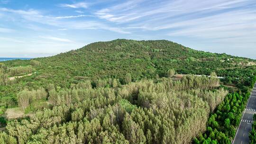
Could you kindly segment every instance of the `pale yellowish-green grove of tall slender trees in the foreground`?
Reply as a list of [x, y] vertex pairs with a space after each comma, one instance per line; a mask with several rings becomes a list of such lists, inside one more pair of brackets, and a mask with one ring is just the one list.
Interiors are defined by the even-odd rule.
[[[50, 89], [52, 108], [9, 122], [1, 135], [19, 144], [189, 144], [205, 129], [210, 107], [214, 109], [228, 93], [212, 90], [217, 80], [188, 75], [180, 81], [142, 80], [115, 88], [93, 89], [86, 82], [72, 89]], [[44, 98], [37, 96], [43, 91], [23, 90], [18, 99], [27, 96], [30, 103]], [[27, 110], [33, 108], [29, 103]]]

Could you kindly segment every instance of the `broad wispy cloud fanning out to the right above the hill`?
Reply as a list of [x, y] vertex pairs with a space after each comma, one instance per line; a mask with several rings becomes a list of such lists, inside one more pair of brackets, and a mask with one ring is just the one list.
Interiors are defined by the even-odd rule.
[[[130, 0], [100, 9], [95, 14], [116, 24], [147, 31], [165, 29], [168, 36], [200, 38], [255, 37], [253, 0]], [[243, 10], [238, 9], [244, 7]]]

